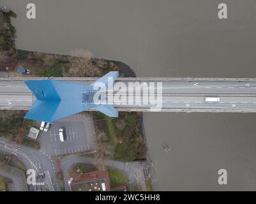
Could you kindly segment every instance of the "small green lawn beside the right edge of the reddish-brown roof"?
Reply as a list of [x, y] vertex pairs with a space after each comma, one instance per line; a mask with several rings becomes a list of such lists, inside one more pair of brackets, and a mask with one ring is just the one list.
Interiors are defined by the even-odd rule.
[[110, 186], [127, 186], [128, 179], [122, 171], [109, 168]]

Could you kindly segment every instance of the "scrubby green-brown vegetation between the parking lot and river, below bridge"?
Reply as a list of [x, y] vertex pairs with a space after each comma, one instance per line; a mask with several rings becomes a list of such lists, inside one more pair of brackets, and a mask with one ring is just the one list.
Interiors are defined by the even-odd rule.
[[[144, 160], [146, 152], [140, 127], [139, 113], [120, 112], [111, 119], [99, 112], [93, 112], [94, 125], [107, 133], [117, 161]], [[119, 143], [120, 141], [120, 143]]]

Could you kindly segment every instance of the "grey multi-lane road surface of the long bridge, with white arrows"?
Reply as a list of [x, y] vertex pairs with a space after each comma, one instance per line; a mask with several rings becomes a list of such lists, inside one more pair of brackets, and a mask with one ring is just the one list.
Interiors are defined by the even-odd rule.
[[[28, 110], [36, 100], [24, 84], [25, 80], [45, 78], [1, 78], [0, 109]], [[54, 78], [79, 84], [91, 84], [96, 78]], [[151, 109], [155, 105], [120, 105], [119, 111], [162, 111], [162, 112], [256, 112], [256, 79], [234, 78], [118, 78], [116, 82], [139, 82], [142, 87], [150, 82], [162, 82], [162, 110]], [[156, 83], [154, 84], [156, 93]], [[133, 94], [135, 96], [136, 94]], [[218, 102], [206, 102], [205, 98], [219, 97]]]

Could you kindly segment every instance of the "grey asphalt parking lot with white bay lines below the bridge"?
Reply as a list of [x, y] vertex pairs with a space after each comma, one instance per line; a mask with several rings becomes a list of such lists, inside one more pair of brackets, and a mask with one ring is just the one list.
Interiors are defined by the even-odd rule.
[[[64, 142], [59, 129], [64, 128]], [[54, 122], [49, 131], [40, 134], [41, 150], [50, 156], [62, 156], [94, 150], [94, 127], [89, 113], [80, 113]]]

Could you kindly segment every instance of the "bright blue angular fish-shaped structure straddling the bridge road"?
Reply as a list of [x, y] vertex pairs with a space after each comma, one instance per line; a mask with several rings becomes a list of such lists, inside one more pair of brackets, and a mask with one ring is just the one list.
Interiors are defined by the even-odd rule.
[[[107, 85], [107, 77], [112, 77], [114, 81], [118, 77], [118, 72], [110, 71], [96, 82]], [[112, 105], [95, 105], [91, 101], [95, 93], [93, 85], [56, 80], [29, 80], [25, 83], [36, 96], [36, 102], [27, 112], [26, 119], [54, 122], [91, 108], [95, 108], [109, 117], [118, 117], [118, 112]]]

